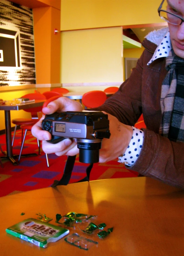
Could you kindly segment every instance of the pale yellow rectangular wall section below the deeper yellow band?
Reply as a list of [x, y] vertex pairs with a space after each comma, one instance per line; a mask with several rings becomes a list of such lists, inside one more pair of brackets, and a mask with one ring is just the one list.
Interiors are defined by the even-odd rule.
[[122, 28], [61, 33], [61, 83], [123, 81]]

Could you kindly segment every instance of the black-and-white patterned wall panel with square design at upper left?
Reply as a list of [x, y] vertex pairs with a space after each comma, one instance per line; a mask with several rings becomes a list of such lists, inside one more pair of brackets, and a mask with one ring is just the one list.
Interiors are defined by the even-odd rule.
[[32, 9], [0, 1], [0, 86], [36, 84]]

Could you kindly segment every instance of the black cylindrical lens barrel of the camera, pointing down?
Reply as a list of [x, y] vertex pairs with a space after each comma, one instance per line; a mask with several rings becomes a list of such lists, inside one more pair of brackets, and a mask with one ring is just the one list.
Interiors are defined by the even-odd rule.
[[102, 139], [77, 139], [79, 162], [93, 164], [99, 162]]

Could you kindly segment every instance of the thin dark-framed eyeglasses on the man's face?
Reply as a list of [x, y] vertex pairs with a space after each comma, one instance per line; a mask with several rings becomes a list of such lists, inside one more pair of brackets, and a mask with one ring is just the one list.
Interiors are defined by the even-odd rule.
[[162, 10], [162, 4], [165, 0], [161, 2], [161, 5], [158, 8], [158, 13], [161, 19], [171, 23], [173, 25], [181, 25], [184, 22], [184, 19], [176, 14], [169, 13], [165, 10]]

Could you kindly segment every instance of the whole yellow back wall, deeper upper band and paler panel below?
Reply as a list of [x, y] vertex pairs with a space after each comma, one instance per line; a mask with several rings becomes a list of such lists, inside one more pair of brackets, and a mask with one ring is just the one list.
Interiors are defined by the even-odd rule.
[[62, 0], [61, 83], [123, 81], [122, 26], [161, 23], [160, 1]]

